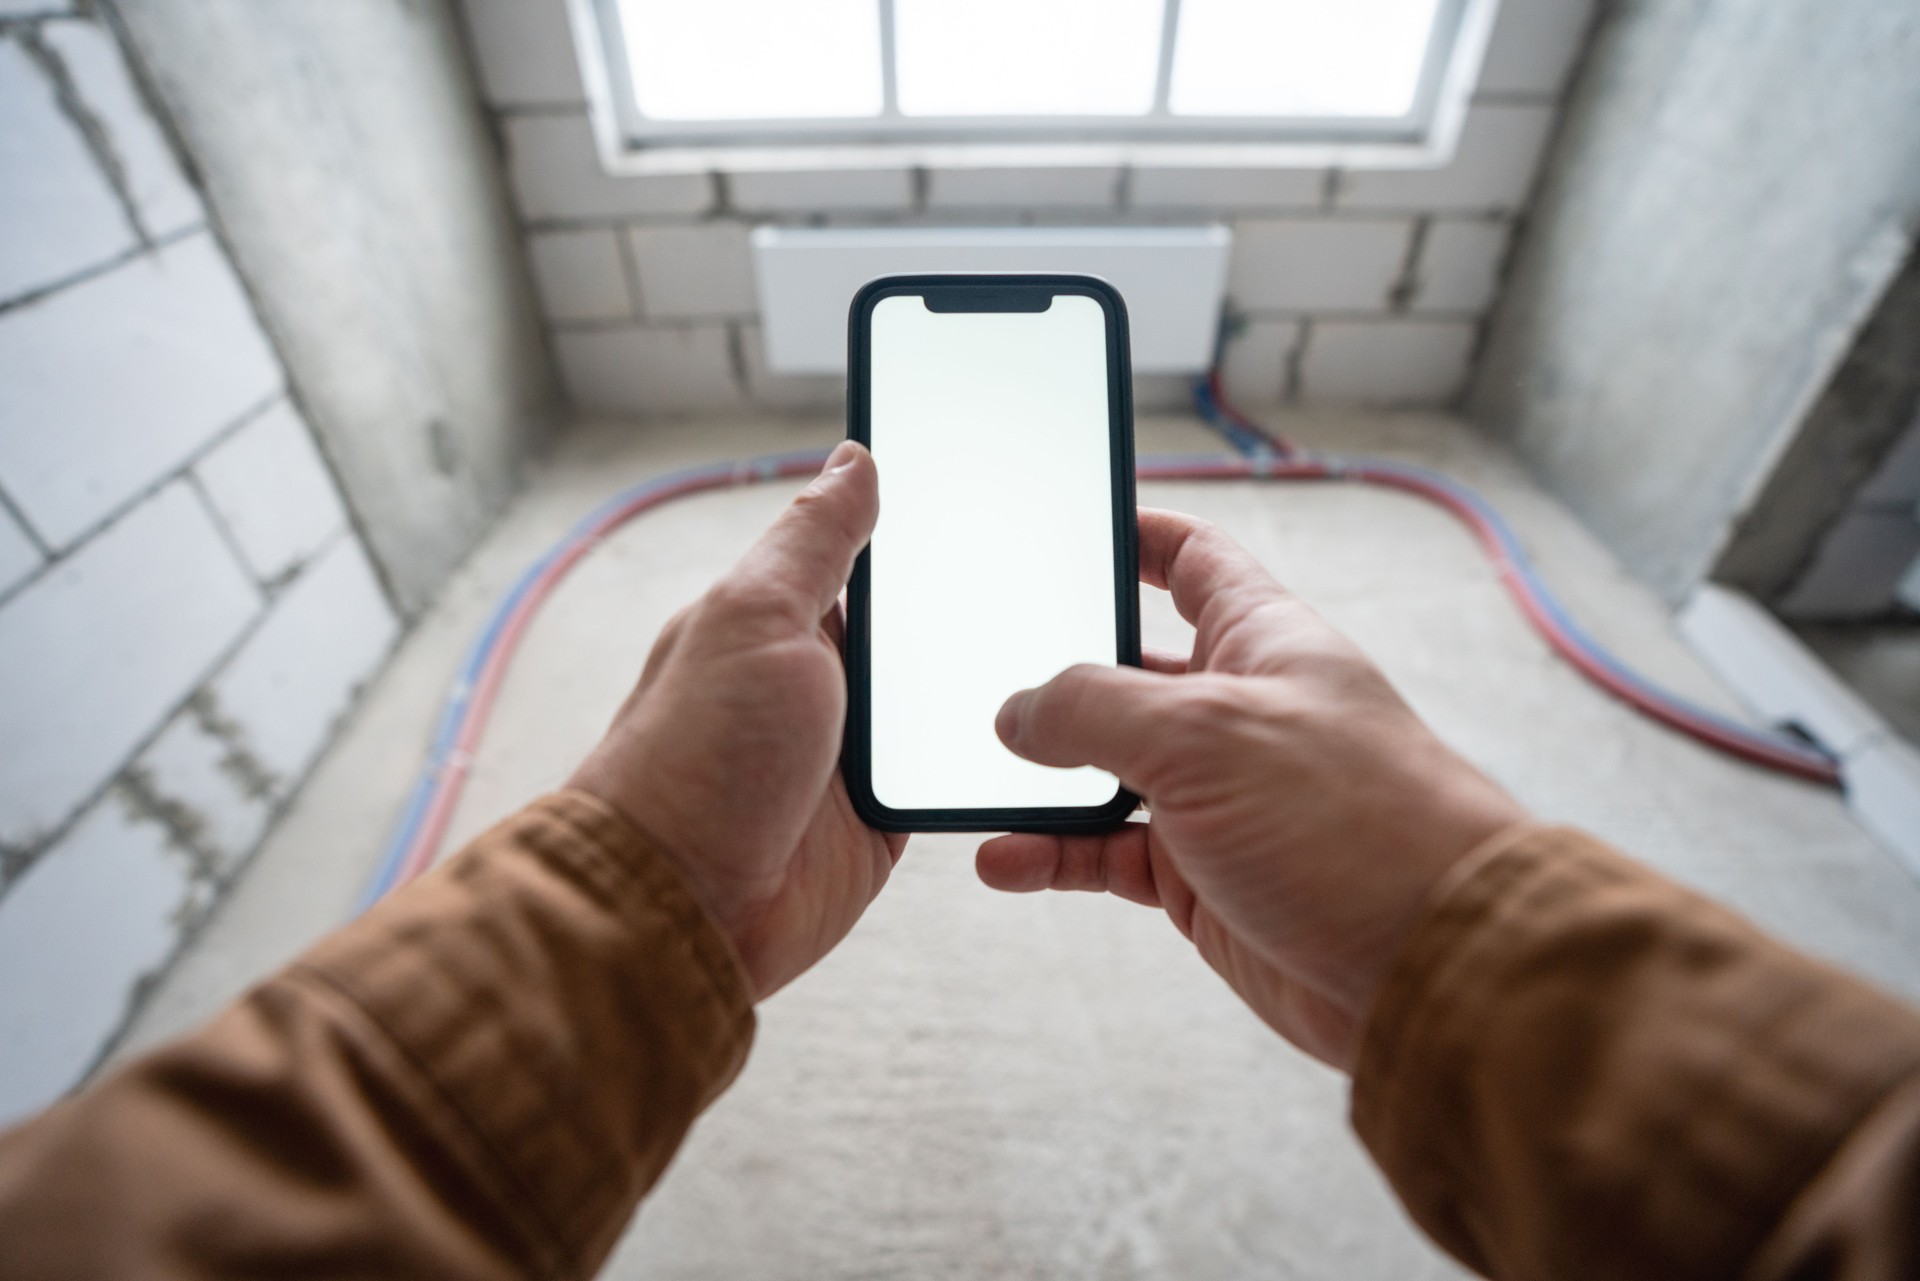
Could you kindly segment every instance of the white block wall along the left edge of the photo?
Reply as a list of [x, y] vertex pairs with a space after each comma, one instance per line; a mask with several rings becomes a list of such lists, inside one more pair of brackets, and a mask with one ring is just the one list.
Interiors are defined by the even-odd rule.
[[113, 35], [0, 0], [0, 1124], [86, 1072], [394, 636]]

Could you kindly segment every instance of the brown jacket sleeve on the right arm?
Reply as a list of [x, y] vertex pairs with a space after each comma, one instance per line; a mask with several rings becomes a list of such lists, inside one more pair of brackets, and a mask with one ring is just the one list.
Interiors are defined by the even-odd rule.
[[1920, 1014], [1576, 832], [1442, 885], [1354, 1125], [1492, 1277], [1920, 1277]]

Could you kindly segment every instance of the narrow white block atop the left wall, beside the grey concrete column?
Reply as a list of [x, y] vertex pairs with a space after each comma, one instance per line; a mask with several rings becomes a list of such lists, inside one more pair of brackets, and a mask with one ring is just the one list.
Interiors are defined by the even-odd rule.
[[200, 223], [205, 217], [200, 196], [180, 173], [113, 35], [98, 23], [46, 23], [40, 35], [67, 65], [81, 100], [106, 131], [148, 234], [165, 236]]

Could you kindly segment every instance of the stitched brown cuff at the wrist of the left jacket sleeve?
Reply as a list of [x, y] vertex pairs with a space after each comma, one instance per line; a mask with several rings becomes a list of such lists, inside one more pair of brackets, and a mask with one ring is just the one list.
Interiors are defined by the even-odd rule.
[[753, 1041], [726, 935], [641, 832], [580, 791], [482, 834], [296, 976], [380, 1029], [563, 1269], [597, 1266]]

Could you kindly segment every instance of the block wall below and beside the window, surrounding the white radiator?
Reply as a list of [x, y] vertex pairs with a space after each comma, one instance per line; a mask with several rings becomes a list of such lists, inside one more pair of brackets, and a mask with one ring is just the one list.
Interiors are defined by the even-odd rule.
[[[1526, 205], [1592, 0], [1505, 0], [1452, 165], [603, 173], [564, 0], [463, 0], [482, 90], [574, 403], [678, 415], [831, 407], [837, 380], [766, 371], [756, 223], [1194, 223], [1236, 230], [1250, 403], [1450, 403]], [[1177, 384], [1142, 388], [1181, 401]]]

